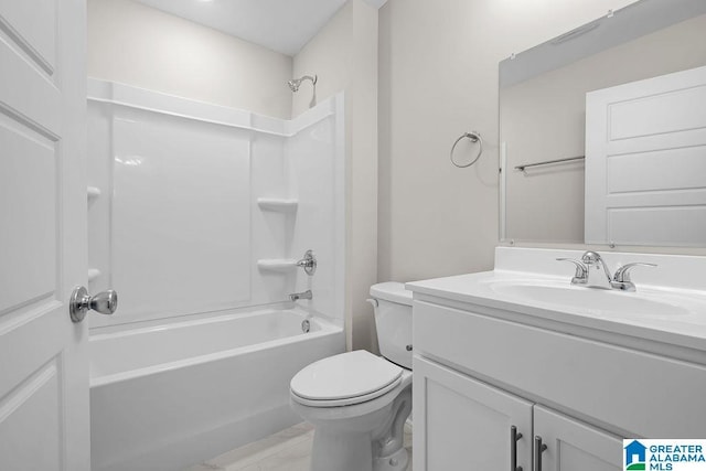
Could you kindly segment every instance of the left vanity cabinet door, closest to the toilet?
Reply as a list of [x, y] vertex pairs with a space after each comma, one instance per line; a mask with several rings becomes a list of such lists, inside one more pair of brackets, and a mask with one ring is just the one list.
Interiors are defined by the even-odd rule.
[[532, 403], [420, 356], [414, 374], [415, 471], [507, 471], [515, 445], [530, 471]]

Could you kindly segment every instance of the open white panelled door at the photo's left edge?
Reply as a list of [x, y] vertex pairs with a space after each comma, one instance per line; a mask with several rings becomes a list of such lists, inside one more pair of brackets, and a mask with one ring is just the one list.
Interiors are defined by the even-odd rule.
[[0, 470], [86, 471], [85, 0], [0, 0]]

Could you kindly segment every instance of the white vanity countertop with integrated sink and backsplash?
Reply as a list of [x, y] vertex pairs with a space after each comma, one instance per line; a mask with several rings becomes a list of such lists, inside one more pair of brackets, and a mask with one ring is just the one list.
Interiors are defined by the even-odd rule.
[[460, 310], [539, 328], [553, 325], [557, 332], [569, 325], [566, 332], [584, 332], [611, 344], [650, 341], [644, 343], [649, 347], [639, 350], [655, 349], [706, 364], [706, 257], [606, 253], [611, 272], [632, 263], [659, 266], [635, 272], [637, 291], [627, 292], [571, 285], [571, 267], [556, 259], [584, 255], [498, 247], [492, 271], [416, 281], [407, 289], [414, 291], [415, 302], [449, 299]]

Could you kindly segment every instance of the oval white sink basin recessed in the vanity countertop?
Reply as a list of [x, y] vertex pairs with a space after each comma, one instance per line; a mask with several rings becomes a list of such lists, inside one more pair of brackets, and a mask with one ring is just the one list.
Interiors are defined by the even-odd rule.
[[[552, 304], [556, 309], [582, 309], [593, 313], [628, 317], [671, 318], [688, 314], [677, 297], [651, 292], [627, 292], [547, 281], [493, 281], [490, 289], [498, 295], [530, 303]], [[667, 298], [667, 299], [665, 299]]]

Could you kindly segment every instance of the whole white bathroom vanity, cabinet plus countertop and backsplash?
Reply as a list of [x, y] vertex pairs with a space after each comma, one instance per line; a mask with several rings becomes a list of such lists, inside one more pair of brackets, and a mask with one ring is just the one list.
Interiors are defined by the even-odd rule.
[[600, 253], [657, 265], [625, 292], [571, 285], [556, 258], [582, 254], [499, 247], [494, 271], [407, 285], [415, 469], [621, 469], [622, 438], [706, 436], [706, 258]]

